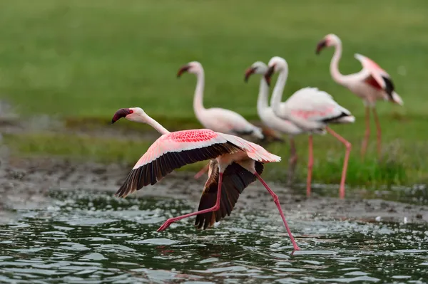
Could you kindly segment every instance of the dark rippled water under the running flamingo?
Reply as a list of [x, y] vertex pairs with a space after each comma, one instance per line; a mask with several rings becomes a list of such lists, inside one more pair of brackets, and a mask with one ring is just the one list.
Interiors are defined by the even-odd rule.
[[[428, 226], [290, 219], [238, 211], [208, 231], [194, 204], [109, 193], [51, 193], [0, 225], [0, 283], [427, 283]], [[10, 221], [12, 220], [12, 221]]]

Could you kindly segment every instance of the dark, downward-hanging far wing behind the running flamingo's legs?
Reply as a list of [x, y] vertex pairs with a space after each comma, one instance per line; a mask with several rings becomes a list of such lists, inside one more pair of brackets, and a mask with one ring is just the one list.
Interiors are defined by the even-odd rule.
[[[258, 174], [263, 172], [263, 163], [255, 162], [255, 170]], [[200, 196], [198, 211], [212, 208], [215, 205], [218, 191], [218, 164], [217, 161], [210, 162], [210, 177], [205, 183], [202, 196]], [[233, 207], [238, 201], [240, 194], [251, 183], [255, 182], [255, 175], [248, 172], [239, 164], [233, 162], [226, 168], [223, 174], [223, 182], [221, 186], [220, 209], [218, 211], [199, 214], [195, 219], [197, 228], [209, 228], [215, 222], [230, 216]]]

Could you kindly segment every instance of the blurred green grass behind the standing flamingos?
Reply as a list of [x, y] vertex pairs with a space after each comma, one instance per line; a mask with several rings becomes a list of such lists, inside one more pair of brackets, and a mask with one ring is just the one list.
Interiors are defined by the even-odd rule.
[[[205, 106], [227, 107], [255, 120], [258, 80], [245, 84], [243, 72], [254, 61], [282, 56], [290, 65], [285, 96], [316, 86], [357, 117], [355, 125], [334, 127], [353, 144], [350, 184], [424, 182], [427, 13], [424, 0], [370, 4], [360, 0], [1, 1], [0, 95], [13, 102], [21, 115], [59, 115], [68, 127], [91, 120], [94, 125], [108, 122], [118, 108], [133, 106], [143, 107], [173, 130], [198, 127], [192, 109], [195, 78], [175, 77], [180, 65], [196, 60], [205, 67]], [[374, 158], [374, 144], [364, 162], [358, 155], [364, 107], [330, 78], [332, 51], [315, 56], [317, 41], [327, 33], [342, 38], [342, 73], [360, 70], [353, 54], [362, 53], [388, 70], [404, 99], [404, 107], [378, 104], [385, 148], [382, 162]], [[399, 72], [403, 68], [405, 74]], [[73, 139], [78, 142], [71, 143]], [[306, 140], [305, 136], [297, 140], [301, 176]], [[317, 181], [340, 179], [344, 149], [333, 140], [315, 137]], [[8, 141], [26, 154], [128, 162], [138, 159], [148, 143], [44, 134]], [[282, 178], [287, 146], [274, 144], [269, 149], [285, 162], [268, 167], [266, 174]]]

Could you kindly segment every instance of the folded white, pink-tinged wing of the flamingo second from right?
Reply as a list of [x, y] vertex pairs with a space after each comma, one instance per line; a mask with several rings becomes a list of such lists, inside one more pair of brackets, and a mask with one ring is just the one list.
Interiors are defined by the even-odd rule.
[[350, 116], [349, 110], [341, 107], [328, 93], [317, 88], [297, 90], [286, 102], [290, 119], [314, 122], [332, 122]]

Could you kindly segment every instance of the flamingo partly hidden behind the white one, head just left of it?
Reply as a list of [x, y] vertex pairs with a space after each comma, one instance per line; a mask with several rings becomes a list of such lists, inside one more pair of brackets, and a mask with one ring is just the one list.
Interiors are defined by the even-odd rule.
[[[252, 74], [262, 74], [264, 75], [267, 72], [267, 65], [262, 61], [256, 61], [253, 63], [250, 68], [245, 71], [245, 82], [248, 82], [248, 78]], [[277, 82], [279, 83], [279, 81]], [[297, 163], [297, 153], [295, 149], [294, 136], [299, 135], [303, 132], [300, 127], [297, 127], [295, 123], [290, 120], [284, 120], [280, 117], [277, 117], [272, 110], [272, 107], [269, 106], [268, 102], [269, 95], [269, 86], [264, 77], [260, 80], [260, 88], [258, 93], [257, 100], [257, 112], [260, 117], [260, 120], [267, 126], [276, 130], [280, 133], [289, 135], [290, 140], [290, 159], [288, 161], [288, 184], [291, 184], [292, 177], [295, 172], [295, 165]]]

